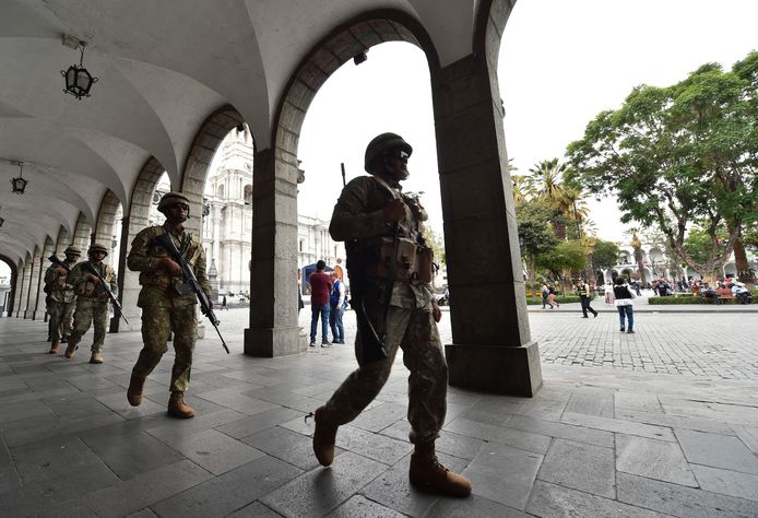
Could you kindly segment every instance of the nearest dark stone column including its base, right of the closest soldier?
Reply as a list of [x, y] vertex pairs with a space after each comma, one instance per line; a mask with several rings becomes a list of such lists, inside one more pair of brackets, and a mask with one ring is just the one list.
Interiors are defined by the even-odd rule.
[[532, 341], [496, 72], [470, 56], [433, 76], [452, 344], [450, 385], [532, 397]]

